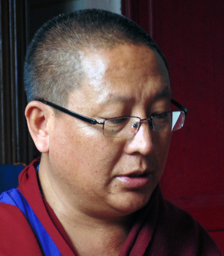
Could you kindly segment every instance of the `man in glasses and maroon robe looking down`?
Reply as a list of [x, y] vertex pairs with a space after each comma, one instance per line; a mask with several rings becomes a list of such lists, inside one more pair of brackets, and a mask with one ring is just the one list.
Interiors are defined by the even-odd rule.
[[107, 11], [58, 16], [27, 51], [25, 87], [42, 156], [1, 196], [1, 255], [221, 255], [158, 185], [187, 110], [145, 31]]

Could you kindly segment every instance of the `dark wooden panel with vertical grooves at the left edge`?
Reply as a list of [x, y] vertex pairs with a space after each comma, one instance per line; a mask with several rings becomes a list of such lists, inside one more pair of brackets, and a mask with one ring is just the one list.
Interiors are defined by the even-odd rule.
[[29, 159], [23, 90], [25, 2], [0, 2], [0, 163]]

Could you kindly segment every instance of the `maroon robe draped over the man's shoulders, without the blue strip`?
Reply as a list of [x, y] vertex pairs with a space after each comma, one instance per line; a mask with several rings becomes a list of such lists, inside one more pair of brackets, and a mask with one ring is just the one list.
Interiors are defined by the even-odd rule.
[[[27, 166], [19, 176], [18, 189], [64, 256], [74, 256], [75, 249], [57, 216], [41, 196], [35, 167]], [[42, 255], [31, 227], [21, 211], [0, 203], [0, 255]], [[136, 213], [119, 256], [215, 256], [221, 255], [208, 233], [188, 213], [164, 200], [157, 186], [148, 204]]]

